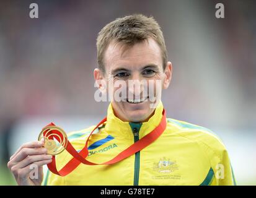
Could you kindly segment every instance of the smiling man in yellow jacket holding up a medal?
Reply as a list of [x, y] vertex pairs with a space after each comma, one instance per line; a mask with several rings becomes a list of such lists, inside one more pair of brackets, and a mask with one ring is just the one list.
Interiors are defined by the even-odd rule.
[[[107, 24], [97, 38], [97, 55], [99, 68], [94, 70], [94, 77], [102, 94], [115, 94], [120, 88], [113, 86], [115, 82], [127, 85], [132, 81], [135, 88], [126, 86], [122, 89], [125, 90], [122, 100], [112, 100], [107, 121], [89, 138], [86, 160], [109, 161], [164, 123], [161, 135], [116, 163], [92, 166], [81, 163], [66, 176], [48, 171], [43, 183], [42, 165], [51, 163], [51, 156], [45, 155], [42, 142], [29, 142], [8, 163], [19, 185], [236, 184], [227, 151], [216, 135], [204, 127], [164, 117], [159, 96], [170, 84], [172, 64], [167, 61], [161, 29], [152, 17], [130, 15]], [[140, 82], [144, 83], [138, 85]], [[156, 92], [142, 94], [144, 85], [150, 87], [151, 82]], [[94, 126], [69, 134], [68, 139], [77, 152], [84, 147], [92, 129]], [[57, 170], [71, 158], [66, 150], [57, 155]], [[40, 166], [38, 179], [29, 177], [31, 164]]]

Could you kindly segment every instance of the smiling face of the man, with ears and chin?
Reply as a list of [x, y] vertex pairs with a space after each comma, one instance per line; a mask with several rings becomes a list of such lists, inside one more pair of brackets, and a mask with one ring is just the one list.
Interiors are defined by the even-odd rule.
[[122, 100], [113, 98], [115, 116], [122, 121], [148, 121], [159, 102], [162, 88], [169, 86], [172, 75], [170, 62], [163, 69], [162, 52], [156, 41], [149, 38], [133, 46], [112, 41], [105, 51], [104, 63], [105, 74], [95, 69], [95, 80], [105, 79], [107, 91], [113, 93], [120, 89], [113, 86], [117, 82], [126, 85], [122, 87], [126, 92]]

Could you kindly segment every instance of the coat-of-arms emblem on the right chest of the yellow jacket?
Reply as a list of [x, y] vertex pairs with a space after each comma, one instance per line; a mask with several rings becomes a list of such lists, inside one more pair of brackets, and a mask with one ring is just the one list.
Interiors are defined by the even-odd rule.
[[166, 157], [160, 158], [160, 160], [153, 165], [153, 169], [159, 173], [172, 173], [175, 170], [179, 170], [176, 161], [167, 160]]

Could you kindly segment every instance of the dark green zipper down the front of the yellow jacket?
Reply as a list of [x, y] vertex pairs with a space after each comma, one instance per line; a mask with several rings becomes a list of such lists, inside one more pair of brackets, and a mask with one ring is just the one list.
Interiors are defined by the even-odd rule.
[[[129, 123], [131, 126], [131, 130], [133, 131], [134, 142], [139, 140], [139, 129], [141, 128], [141, 123]], [[135, 153], [135, 174], [133, 179], [133, 185], [139, 185], [139, 158], [140, 152]]]

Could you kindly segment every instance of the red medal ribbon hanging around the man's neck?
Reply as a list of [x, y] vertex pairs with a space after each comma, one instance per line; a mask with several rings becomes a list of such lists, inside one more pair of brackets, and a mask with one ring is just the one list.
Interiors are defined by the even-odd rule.
[[[51, 163], [48, 163], [48, 165], [47, 165], [49, 170], [52, 173], [58, 174], [60, 176], [66, 176], [69, 173], [71, 173], [74, 169], [76, 169], [76, 167], [78, 165], [80, 165], [80, 163], [83, 163], [85, 165], [111, 165], [113, 163], [117, 163], [118, 161], [121, 161], [121, 160], [133, 155], [134, 153], [139, 152], [139, 150], [144, 149], [149, 144], [154, 142], [154, 140], [156, 140], [159, 136], [161, 136], [162, 132], [164, 132], [164, 130], [166, 129], [166, 112], [165, 112], [165, 110], [162, 111], [161, 122], [154, 130], [149, 132], [149, 134], [147, 134], [143, 138], [139, 139], [134, 144], [130, 145], [130, 147], [123, 150], [116, 157], [112, 158], [112, 160], [106, 161], [104, 163], [93, 163], [91, 161], [86, 160], [86, 157], [88, 156], [88, 153], [89, 153], [88, 149], [87, 149], [89, 138], [92, 135], [92, 133], [95, 131], [95, 129], [97, 129], [100, 126], [100, 124], [105, 123], [105, 121], [107, 121], [107, 118], [102, 119], [102, 121], [100, 121], [100, 123], [97, 124], [97, 126], [95, 126], [95, 128], [92, 130], [92, 132], [90, 132], [90, 135], [87, 137], [87, 140], [86, 140], [86, 145], [79, 153], [76, 151], [76, 149], [74, 149], [73, 145], [71, 145], [70, 142], [67, 140], [68, 145], [66, 147], [66, 150], [73, 156], [73, 158], [65, 166], [63, 166], [63, 168], [61, 168], [60, 171], [58, 171], [56, 168], [55, 155], [53, 155]], [[55, 126], [55, 124], [50, 123], [47, 126]], [[57, 130], [53, 130], [51, 132], [55, 133], [55, 134], [60, 133]], [[51, 137], [51, 139], [53, 139], [53, 137], [55, 137], [56, 140], [58, 140], [58, 142], [61, 142], [61, 140], [58, 138], [58, 136], [53, 135]]]

